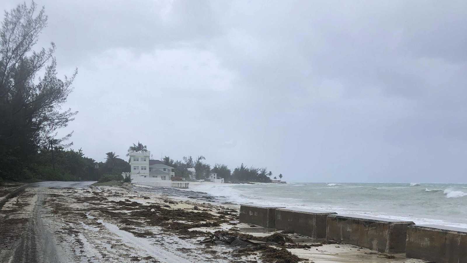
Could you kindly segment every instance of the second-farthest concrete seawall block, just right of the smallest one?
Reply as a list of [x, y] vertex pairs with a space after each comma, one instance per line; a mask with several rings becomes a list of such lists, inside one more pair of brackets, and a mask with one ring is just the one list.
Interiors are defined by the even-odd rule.
[[277, 230], [291, 230], [311, 238], [326, 238], [327, 216], [335, 212], [276, 209]]

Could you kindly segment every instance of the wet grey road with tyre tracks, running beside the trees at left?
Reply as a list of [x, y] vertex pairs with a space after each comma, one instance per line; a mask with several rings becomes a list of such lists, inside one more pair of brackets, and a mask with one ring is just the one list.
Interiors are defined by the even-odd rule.
[[[65, 263], [70, 259], [65, 251], [56, 246], [57, 241], [53, 233], [42, 220], [42, 201], [49, 187], [86, 187], [95, 182], [40, 182], [31, 183], [27, 187], [38, 187], [37, 201], [29, 214], [29, 221], [25, 224], [21, 238], [16, 242], [13, 251], [2, 262], [9, 263]], [[7, 255], [4, 255], [7, 256]]]

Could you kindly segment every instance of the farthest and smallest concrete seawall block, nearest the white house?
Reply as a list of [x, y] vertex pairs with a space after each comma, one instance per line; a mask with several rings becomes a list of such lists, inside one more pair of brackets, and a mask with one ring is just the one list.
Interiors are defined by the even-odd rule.
[[240, 222], [275, 228], [276, 208], [281, 207], [240, 205]]

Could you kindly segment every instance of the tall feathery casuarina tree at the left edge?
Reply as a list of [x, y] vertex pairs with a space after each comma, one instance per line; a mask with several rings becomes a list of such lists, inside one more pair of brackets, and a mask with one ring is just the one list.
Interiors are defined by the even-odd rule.
[[71, 145], [65, 141], [72, 132], [57, 138], [57, 129], [77, 114], [61, 108], [77, 70], [59, 79], [55, 44], [33, 49], [46, 26], [44, 8], [32, 2], [5, 12], [0, 27], [0, 176], [11, 179], [21, 179], [20, 169], [42, 146]]

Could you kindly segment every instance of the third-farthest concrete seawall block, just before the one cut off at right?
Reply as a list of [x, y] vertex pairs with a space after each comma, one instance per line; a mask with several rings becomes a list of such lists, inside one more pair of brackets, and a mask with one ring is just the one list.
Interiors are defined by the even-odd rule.
[[385, 253], [405, 252], [407, 226], [414, 222], [361, 215], [327, 216], [326, 239]]

